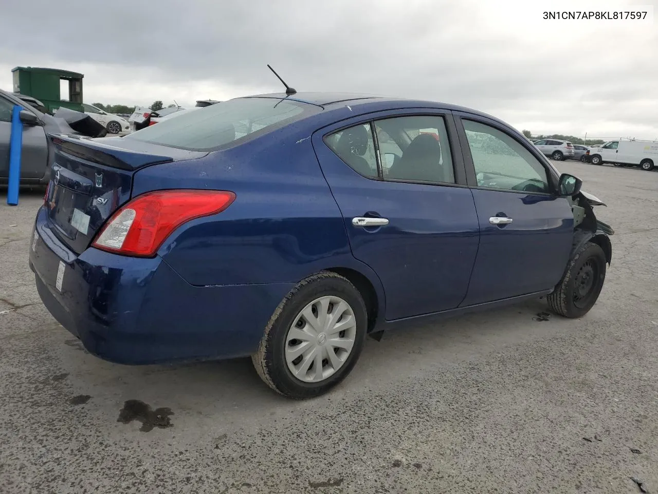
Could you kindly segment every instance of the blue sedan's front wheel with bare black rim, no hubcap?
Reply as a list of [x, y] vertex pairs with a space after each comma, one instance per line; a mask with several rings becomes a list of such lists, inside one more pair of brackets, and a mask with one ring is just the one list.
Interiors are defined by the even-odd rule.
[[603, 288], [605, 263], [600, 246], [592, 242], [582, 245], [569, 261], [567, 272], [555, 290], [546, 297], [551, 310], [569, 318], [582, 317], [590, 312]]

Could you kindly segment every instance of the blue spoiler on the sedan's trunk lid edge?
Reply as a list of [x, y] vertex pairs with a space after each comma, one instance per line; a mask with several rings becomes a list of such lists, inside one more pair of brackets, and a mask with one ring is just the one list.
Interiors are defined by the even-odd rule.
[[[121, 170], [135, 171], [148, 165], [168, 163], [176, 159], [175, 156], [155, 155], [153, 153], [141, 152], [140, 150], [116, 148], [109, 144], [101, 144], [98, 140], [91, 138], [85, 139], [64, 136], [63, 134], [48, 134], [48, 138], [60, 152]], [[160, 146], [159, 148], [164, 149]], [[172, 151], [180, 150], [172, 149]], [[178, 153], [174, 152], [172, 154]]]

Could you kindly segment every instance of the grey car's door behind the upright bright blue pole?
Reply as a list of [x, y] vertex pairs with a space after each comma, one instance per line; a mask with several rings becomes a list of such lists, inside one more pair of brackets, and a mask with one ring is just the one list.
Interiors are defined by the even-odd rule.
[[[0, 177], [3, 178], [9, 177], [9, 140], [14, 105], [14, 101], [0, 95]], [[48, 145], [43, 127], [22, 124], [22, 131], [20, 177], [41, 178], [48, 161]]]

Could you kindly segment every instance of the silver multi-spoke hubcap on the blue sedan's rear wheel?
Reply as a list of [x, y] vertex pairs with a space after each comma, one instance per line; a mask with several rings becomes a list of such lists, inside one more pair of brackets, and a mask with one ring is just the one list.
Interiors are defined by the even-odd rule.
[[300, 381], [323, 381], [345, 364], [356, 336], [357, 321], [345, 300], [335, 296], [313, 300], [288, 330], [288, 369]]

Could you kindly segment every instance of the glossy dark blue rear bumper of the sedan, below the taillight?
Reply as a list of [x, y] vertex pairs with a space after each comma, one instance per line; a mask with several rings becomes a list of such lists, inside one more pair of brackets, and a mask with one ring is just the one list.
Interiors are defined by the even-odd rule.
[[[161, 258], [88, 248], [75, 256], [43, 209], [30, 267], [43, 304], [92, 354], [120, 364], [247, 356], [291, 283], [195, 287]], [[57, 287], [60, 263], [64, 264]]]

